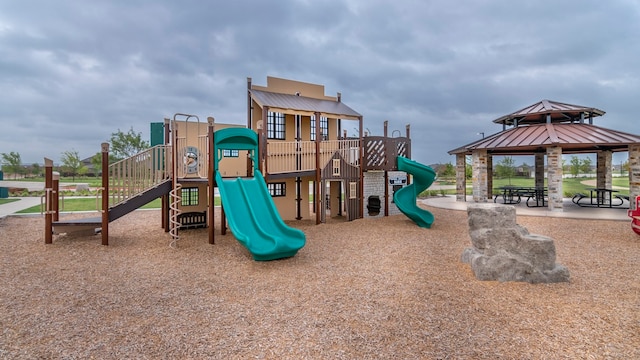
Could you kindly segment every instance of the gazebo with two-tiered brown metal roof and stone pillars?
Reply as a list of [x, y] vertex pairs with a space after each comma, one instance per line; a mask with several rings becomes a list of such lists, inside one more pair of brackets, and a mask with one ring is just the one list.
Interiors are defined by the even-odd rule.
[[[466, 201], [466, 156], [472, 156], [473, 201], [492, 199], [493, 156], [533, 155], [535, 186], [544, 186], [547, 160], [548, 208], [562, 211], [562, 154], [596, 153], [596, 187], [611, 189], [612, 154], [629, 153], [629, 195], [640, 195], [640, 136], [593, 124], [604, 111], [542, 100], [494, 123], [502, 131], [449, 151], [456, 155], [456, 200]], [[631, 207], [635, 206], [633, 201]]]

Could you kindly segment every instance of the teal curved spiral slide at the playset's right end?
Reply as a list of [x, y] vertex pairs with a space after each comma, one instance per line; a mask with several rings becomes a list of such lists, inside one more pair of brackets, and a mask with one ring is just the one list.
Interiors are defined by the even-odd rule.
[[431, 212], [418, 207], [416, 199], [418, 194], [426, 190], [436, 179], [436, 172], [429, 166], [420, 164], [414, 160], [398, 156], [398, 170], [413, 175], [413, 183], [396, 190], [393, 194], [393, 202], [398, 209], [418, 226], [430, 228], [434, 216]]

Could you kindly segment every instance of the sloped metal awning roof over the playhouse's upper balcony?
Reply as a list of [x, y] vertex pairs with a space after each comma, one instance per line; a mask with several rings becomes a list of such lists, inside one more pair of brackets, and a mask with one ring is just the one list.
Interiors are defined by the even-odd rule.
[[315, 99], [305, 96], [281, 94], [262, 90], [249, 90], [251, 98], [260, 107], [269, 107], [270, 111], [284, 114], [313, 115], [316, 112], [321, 116], [337, 119], [357, 120], [360, 115], [346, 104], [340, 101]]

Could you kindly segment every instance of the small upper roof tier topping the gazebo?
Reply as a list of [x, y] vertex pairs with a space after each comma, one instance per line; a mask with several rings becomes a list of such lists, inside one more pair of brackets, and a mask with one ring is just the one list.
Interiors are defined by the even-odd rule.
[[604, 113], [604, 111], [594, 107], [541, 100], [511, 114], [501, 116], [493, 120], [493, 122], [503, 124], [503, 126], [519, 126], [547, 122], [584, 122], [588, 119], [588, 122], [592, 123], [594, 117], [602, 116]]

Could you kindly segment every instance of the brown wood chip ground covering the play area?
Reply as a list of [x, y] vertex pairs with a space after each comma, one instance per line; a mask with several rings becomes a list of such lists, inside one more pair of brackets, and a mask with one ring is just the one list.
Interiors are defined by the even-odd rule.
[[42, 218], [0, 219], [0, 359], [640, 358], [628, 222], [519, 216], [571, 281], [482, 282], [460, 262], [466, 212], [429, 210], [431, 229], [294, 222], [307, 245], [271, 262], [219, 229], [215, 245], [185, 230], [172, 249], [157, 210], [113, 222], [109, 246], [45, 245]]

